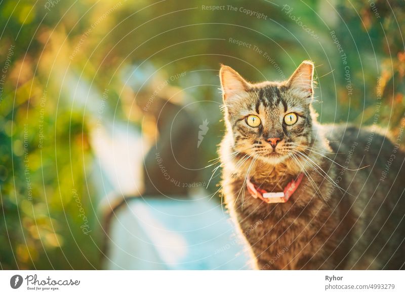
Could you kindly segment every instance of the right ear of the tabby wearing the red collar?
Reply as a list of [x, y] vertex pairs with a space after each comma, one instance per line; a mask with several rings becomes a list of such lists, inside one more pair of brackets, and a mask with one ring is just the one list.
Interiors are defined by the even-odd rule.
[[313, 68], [312, 61], [304, 60], [287, 82], [290, 89], [308, 103], [312, 101], [313, 95]]

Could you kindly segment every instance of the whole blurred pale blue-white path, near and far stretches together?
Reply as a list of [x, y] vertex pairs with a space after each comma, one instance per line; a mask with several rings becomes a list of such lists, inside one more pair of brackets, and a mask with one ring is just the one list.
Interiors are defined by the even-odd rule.
[[[148, 143], [131, 124], [117, 121], [104, 93], [74, 76], [70, 76], [70, 83], [78, 85], [70, 90], [75, 106], [85, 108], [86, 116], [96, 125], [90, 133], [98, 200], [140, 195]], [[86, 100], [79, 99], [83, 97]], [[131, 200], [118, 210], [110, 225], [105, 268], [249, 269], [248, 255], [229, 216], [204, 193], [179, 196], [178, 200], [159, 196]]]

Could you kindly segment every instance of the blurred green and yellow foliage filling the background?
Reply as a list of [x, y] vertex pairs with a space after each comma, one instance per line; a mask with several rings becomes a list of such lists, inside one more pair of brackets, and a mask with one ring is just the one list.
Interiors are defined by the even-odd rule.
[[[198, 150], [205, 163], [217, 157], [224, 128], [219, 111], [220, 63], [248, 80], [262, 81], [280, 80], [277, 67], [288, 77], [302, 60], [311, 59], [318, 82], [314, 106], [321, 122], [372, 124], [381, 93], [377, 123], [395, 133], [405, 110], [404, 8], [399, 0], [3, 1], [1, 268], [101, 267], [96, 207], [102, 196], [96, 196], [90, 177], [94, 118], [72, 101], [77, 85], [71, 77], [99, 93], [109, 89], [110, 111], [119, 120], [140, 126], [144, 115], [131, 110], [139, 89], [125, 85], [120, 69], [153, 64], [166, 77], [186, 72], [185, 79], [171, 84], [186, 89], [188, 95], [180, 103], [189, 105], [198, 122], [210, 122]], [[255, 17], [258, 13], [265, 18]], [[252, 47], [238, 46], [230, 38]], [[87, 97], [81, 99], [86, 102]], [[215, 103], [190, 104], [197, 101]], [[201, 179], [210, 176], [211, 169], [201, 171]], [[216, 182], [218, 177], [212, 192]], [[80, 228], [83, 218], [77, 198], [89, 219], [90, 234]]]

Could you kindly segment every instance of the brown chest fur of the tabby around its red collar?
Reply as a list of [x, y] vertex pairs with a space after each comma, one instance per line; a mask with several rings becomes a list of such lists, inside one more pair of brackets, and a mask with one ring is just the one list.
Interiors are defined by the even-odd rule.
[[[235, 173], [232, 165], [229, 166], [224, 169], [225, 202], [252, 246], [258, 268], [313, 268], [314, 262], [307, 264], [305, 257], [316, 253], [329, 237], [330, 232], [322, 228], [336, 228], [337, 215], [331, 215], [331, 210], [320, 199], [322, 193], [332, 190], [331, 183], [321, 181], [324, 178], [319, 178], [318, 174], [308, 174], [288, 202], [267, 204], [246, 190], [247, 177], [268, 192], [280, 192], [300, 169], [288, 162], [277, 166], [248, 162]], [[333, 169], [329, 173], [333, 176]]]

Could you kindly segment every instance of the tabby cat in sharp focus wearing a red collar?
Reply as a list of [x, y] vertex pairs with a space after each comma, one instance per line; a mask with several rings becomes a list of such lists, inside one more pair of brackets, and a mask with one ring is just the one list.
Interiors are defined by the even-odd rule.
[[405, 120], [393, 139], [319, 124], [313, 72], [303, 61], [287, 81], [253, 84], [221, 66], [230, 216], [256, 269], [404, 269]]

